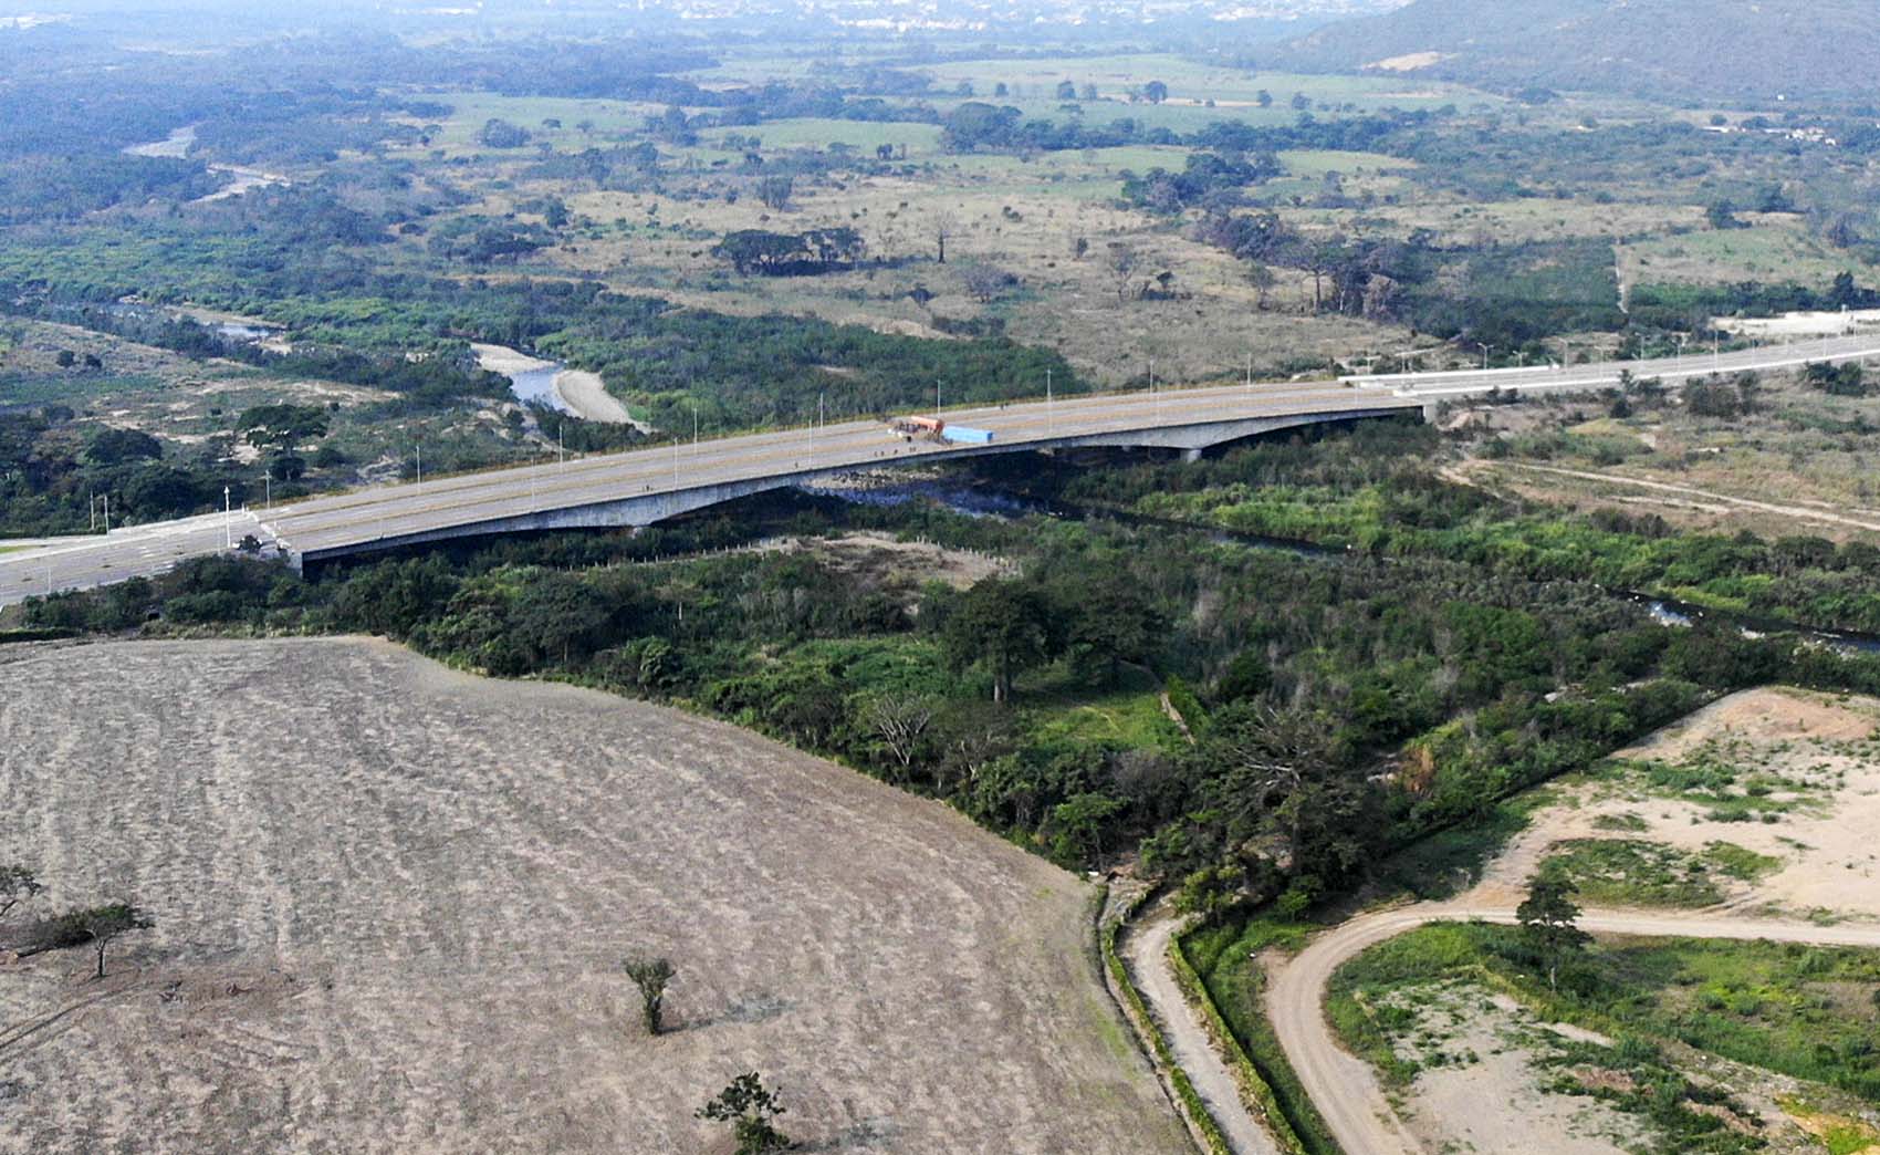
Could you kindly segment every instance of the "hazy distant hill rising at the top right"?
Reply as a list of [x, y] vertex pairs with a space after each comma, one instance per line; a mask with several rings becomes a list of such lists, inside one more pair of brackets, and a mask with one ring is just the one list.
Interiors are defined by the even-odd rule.
[[1305, 71], [1399, 71], [1498, 90], [1874, 102], [1874, 0], [1416, 0], [1267, 56]]

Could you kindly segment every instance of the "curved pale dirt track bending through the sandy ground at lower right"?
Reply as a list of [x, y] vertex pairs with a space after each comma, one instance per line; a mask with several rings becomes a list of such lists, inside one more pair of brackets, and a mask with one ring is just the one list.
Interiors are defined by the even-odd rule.
[[[1371, 946], [1431, 922], [1515, 922], [1513, 909], [1470, 903], [1421, 903], [1354, 918], [1312, 941], [1267, 988], [1267, 1016], [1286, 1048], [1299, 1082], [1331, 1127], [1344, 1155], [1408, 1155], [1423, 1151], [1391, 1112], [1376, 1072], [1331, 1033], [1325, 986], [1333, 971]], [[1769, 939], [1816, 946], [1880, 948], [1880, 927], [1814, 926], [1739, 918], [1731, 914], [1654, 914], [1649, 910], [1587, 910], [1579, 926], [1611, 935], [1684, 939]]]

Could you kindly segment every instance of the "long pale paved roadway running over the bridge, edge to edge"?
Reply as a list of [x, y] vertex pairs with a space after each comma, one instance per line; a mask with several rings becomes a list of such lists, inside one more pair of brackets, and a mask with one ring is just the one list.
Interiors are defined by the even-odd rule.
[[32, 542], [13, 547], [0, 542], [0, 606], [47, 591], [86, 589], [133, 574], [156, 574], [184, 557], [214, 553], [226, 540], [239, 542], [244, 534], [293, 555], [321, 555], [635, 497], [694, 495], [703, 500], [699, 491], [726, 485], [966, 457], [1019, 446], [1077, 444], [1079, 438], [1147, 435], [1301, 414], [1412, 410], [1446, 397], [1480, 395], [1489, 389], [1598, 389], [1615, 384], [1621, 371], [1639, 378], [1681, 380], [1713, 371], [1769, 371], [1805, 361], [1867, 357], [1880, 359], [1880, 337], [1809, 340], [1720, 357], [1692, 352], [1686, 357], [1662, 361], [1162, 389], [946, 412], [951, 423], [991, 429], [996, 435], [996, 444], [991, 448], [906, 444], [878, 421], [844, 421], [822, 429], [756, 433], [699, 444], [673, 442], [624, 453], [357, 489], [263, 512], [244, 510], [231, 515], [229, 527], [224, 527], [222, 515], [209, 515], [55, 544]]

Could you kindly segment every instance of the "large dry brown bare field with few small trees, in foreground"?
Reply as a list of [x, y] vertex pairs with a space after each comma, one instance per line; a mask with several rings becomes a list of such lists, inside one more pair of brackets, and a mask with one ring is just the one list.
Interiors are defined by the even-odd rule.
[[[735, 728], [372, 641], [0, 655], [0, 860], [156, 920], [0, 965], [6, 1151], [820, 1151], [1184, 1140], [1089, 890]], [[620, 973], [675, 959], [649, 1040]]]

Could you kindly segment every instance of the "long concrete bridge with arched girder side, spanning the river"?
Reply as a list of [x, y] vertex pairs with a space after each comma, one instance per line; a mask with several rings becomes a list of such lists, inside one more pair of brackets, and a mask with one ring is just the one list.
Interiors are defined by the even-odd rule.
[[[244, 536], [295, 566], [449, 538], [543, 529], [654, 525], [694, 510], [857, 468], [929, 465], [989, 453], [1094, 446], [1198, 455], [1261, 433], [1419, 412], [1393, 389], [1339, 382], [1085, 395], [948, 410], [987, 429], [985, 446], [908, 442], [880, 421], [844, 421], [316, 497], [273, 510], [231, 510], [0, 549], [0, 604], [160, 574]], [[0, 547], [8, 544], [0, 542]]]

